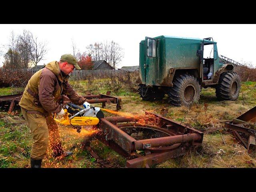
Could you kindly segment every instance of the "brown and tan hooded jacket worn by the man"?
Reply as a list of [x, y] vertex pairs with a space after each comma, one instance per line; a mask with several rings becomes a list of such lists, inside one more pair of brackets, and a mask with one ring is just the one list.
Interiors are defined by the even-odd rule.
[[56, 100], [62, 94], [66, 94], [74, 104], [82, 105], [86, 99], [75, 92], [68, 78], [69, 75], [60, 71], [57, 61], [48, 63], [30, 78], [19, 105], [42, 114], [58, 113], [61, 106]]

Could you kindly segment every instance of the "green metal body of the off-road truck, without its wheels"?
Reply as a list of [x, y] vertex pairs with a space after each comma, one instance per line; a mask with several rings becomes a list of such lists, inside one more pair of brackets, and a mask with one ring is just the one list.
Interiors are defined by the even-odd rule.
[[[149, 57], [148, 37], [140, 42], [140, 79], [142, 84], [166, 86], [166, 78], [172, 69], [195, 69], [202, 78], [202, 64], [197, 56], [197, 50], [204, 45], [213, 44], [215, 72], [223, 65], [219, 62], [216, 42], [199, 38], [184, 38], [173, 36], [158, 36], [156, 40], [156, 56]], [[168, 85], [167, 85], [168, 86]]]

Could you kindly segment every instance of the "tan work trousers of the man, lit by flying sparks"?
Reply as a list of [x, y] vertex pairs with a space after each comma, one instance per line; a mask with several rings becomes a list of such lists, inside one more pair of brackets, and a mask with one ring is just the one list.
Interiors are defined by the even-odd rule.
[[28, 122], [28, 126], [33, 135], [34, 142], [32, 144], [30, 157], [35, 160], [43, 159], [46, 155], [48, 142], [52, 148], [54, 155], [62, 154], [60, 134], [58, 125], [52, 118], [52, 113], [48, 116], [41, 114], [32, 114], [21, 108], [21, 112]]

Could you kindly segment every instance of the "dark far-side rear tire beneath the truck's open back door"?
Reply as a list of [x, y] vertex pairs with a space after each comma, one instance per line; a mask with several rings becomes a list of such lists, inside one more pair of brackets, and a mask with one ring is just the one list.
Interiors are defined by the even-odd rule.
[[155, 101], [164, 98], [164, 92], [154, 88], [147, 88], [145, 84], [139, 84], [138, 91], [142, 100]]

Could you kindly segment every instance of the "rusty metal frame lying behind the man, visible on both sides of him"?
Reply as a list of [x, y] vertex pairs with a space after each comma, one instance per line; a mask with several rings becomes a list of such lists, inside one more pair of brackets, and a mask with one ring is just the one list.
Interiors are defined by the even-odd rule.
[[[14, 94], [14, 95], [5, 95], [0, 96], [0, 110], [8, 111], [8, 113], [12, 113], [15, 108], [20, 108], [19, 102], [22, 97], [22, 94]], [[104, 108], [107, 104], [116, 104], [116, 109], [121, 109], [121, 98], [110, 96], [110, 91], [107, 92], [106, 95], [98, 94], [98, 95], [84, 95], [84, 98], [88, 99], [87, 102], [92, 103], [102, 103], [102, 108]]]

